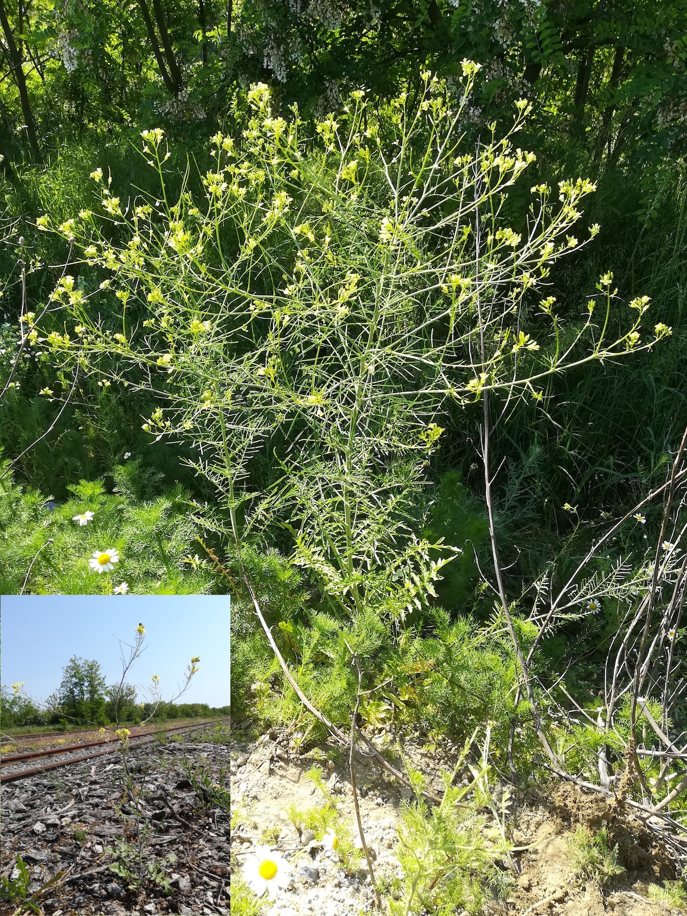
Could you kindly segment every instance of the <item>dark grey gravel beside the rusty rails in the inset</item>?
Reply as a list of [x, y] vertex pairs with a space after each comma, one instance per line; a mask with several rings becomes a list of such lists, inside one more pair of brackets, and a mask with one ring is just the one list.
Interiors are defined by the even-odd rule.
[[[60, 884], [41, 896], [50, 916], [224, 916], [229, 912], [229, 814], [218, 801], [221, 794], [202, 798], [193, 789], [184, 764], [188, 760], [194, 770], [202, 766], [209, 780], [219, 785], [229, 767], [229, 747], [199, 738], [193, 743], [169, 741], [132, 748], [129, 760], [136, 782], [145, 776], [138, 795], [151, 826], [145, 855], [147, 861], [160, 863], [170, 882], [169, 895], [149, 880], [130, 890], [126, 878], [109, 867], [113, 857], [107, 846], [122, 838], [130, 843], [136, 839], [136, 817], [131, 799], [125, 797], [122, 764], [110, 755], [3, 786], [0, 872], [16, 878], [19, 854], [35, 892], [56, 872], [66, 870]], [[175, 862], [164, 862], [169, 853], [177, 856]], [[0, 904], [0, 913], [15, 909], [16, 904]]]

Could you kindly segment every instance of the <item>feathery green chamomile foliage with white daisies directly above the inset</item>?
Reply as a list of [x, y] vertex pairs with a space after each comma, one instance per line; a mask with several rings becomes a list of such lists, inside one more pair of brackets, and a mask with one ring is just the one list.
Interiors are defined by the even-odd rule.
[[[6, 464], [4, 465], [6, 469]], [[71, 497], [49, 507], [49, 497], [23, 488], [11, 474], [0, 480], [0, 584], [3, 594], [22, 588], [33, 594], [113, 594], [127, 583], [136, 594], [206, 594], [216, 576], [206, 561], [189, 557], [204, 514], [180, 485], [159, 496], [136, 499], [130, 482], [146, 472], [137, 463], [116, 467], [114, 492], [104, 481], [82, 480], [68, 487]], [[119, 490], [120, 492], [117, 492]], [[93, 513], [80, 525], [75, 516]], [[93, 553], [111, 548], [119, 562], [105, 573], [93, 572]], [[26, 586], [24, 585], [26, 580]]]

